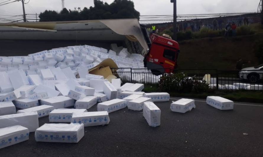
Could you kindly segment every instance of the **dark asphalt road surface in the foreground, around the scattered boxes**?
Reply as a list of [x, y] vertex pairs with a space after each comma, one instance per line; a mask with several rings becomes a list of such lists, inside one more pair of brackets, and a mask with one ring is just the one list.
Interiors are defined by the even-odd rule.
[[[36, 142], [30, 133], [28, 141], [0, 149], [0, 156], [263, 156], [263, 106], [235, 104], [234, 110], [221, 111], [201, 100], [182, 114], [171, 112], [171, 101], [155, 103], [162, 112], [156, 128], [148, 125], [142, 112], [125, 108], [109, 113], [109, 125], [85, 127], [79, 143]], [[96, 105], [89, 111], [96, 111]], [[44, 123], [48, 117], [39, 119], [40, 126]]]

